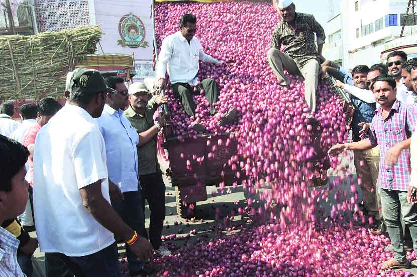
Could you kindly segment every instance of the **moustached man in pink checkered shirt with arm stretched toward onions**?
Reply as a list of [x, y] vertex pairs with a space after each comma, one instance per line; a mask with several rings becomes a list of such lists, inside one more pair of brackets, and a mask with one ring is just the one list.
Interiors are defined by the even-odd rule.
[[[366, 150], [376, 145], [380, 150], [379, 188], [382, 212], [394, 249], [394, 257], [384, 261], [381, 269], [409, 266], [403, 245], [401, 214], [409, 227], [414, 248], [417, 238], [417, 206], [407, 202], [410, 180], [411, 133], [417, 123], [417, 107], [396, 99], [396, 83], [392, 77], [375, 78], [371, 89], [381, 105], [372, 120], [368, 139], [353, 143], [336, 144], [329, 154], [337, 155], [345, 150]], [[417, 249], [414, 249], [417, 250]]]

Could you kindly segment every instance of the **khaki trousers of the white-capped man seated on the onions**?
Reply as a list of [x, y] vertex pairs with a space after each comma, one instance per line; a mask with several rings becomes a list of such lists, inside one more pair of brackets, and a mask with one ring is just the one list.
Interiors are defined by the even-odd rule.
[[304, 98], [311, 109], [311, 113], [316, 112], [316, 90], [319, 84], [319, 62], [315, 59], [308, 60], [302, 65], [297, 65], [294, 60], [278, 49], [271, 48], [268, 51], [268, 63], [272, 68], [276, 78], [281, 85], [289, 85], [289, 80], [285, 78], [284, 69], [292, 75], [302, 75], [304, 77]]

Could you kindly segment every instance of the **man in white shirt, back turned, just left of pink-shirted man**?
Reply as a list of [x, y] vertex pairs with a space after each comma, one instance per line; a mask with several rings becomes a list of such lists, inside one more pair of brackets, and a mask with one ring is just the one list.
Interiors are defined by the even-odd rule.
[[[18, 141], [19, 143], [23, 143], [23, 138], [28, 131], [29, 128], [35, 126], [36, 124], [36, 117], [38, 116], [38, 106], [33, 103], [23, 104], [20, 107], [20, 118], [22, 119], [22, 124], [16, 129], [11, 138]], [[29, 170], [29, 162], [26, 162], [26, 171]], [[30, 182], [30, 179], [27, 180]], [[28, 200], [25, 208], [25, 212], [22, 213], [20, 216], [20, 221], [22, 222], [22, 226], [26, 228], [33, 228], [33, 215], [32, 215], [32, 207], [30, 201]]]

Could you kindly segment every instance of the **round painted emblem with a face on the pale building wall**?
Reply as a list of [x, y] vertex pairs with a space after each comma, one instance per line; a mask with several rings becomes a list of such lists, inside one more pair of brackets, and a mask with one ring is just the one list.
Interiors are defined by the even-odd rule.
[[119, 34], [122, 39], [117, 42], [122, 47], [146, 48], [149, 46], [149, 43], [145, 42], [145, 25], [133, 14], [124, 15], [120, 19]]

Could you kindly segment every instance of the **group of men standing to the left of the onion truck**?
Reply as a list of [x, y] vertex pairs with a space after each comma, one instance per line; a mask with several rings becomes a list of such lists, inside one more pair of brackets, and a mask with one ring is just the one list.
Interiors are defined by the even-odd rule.
[[[161, 241], [165, 185], [156, 154], [165, 115], [153, 119], [167, 98], [83, 68], [68, 73], [65, 96], [63, 107], [52, 98], [22, 105], [21, 122], [12, 104], [0, 106], [0, 243], [10, 246], [0, 252], [0, 275], [32, 276], [38, 242], [47, 276], [120, 276], [117, 241], [126, 242], [132, 276], [152, 273], [147, 259], [171, 254]], [[34, 229], [37, 238], [28, 234]]]

